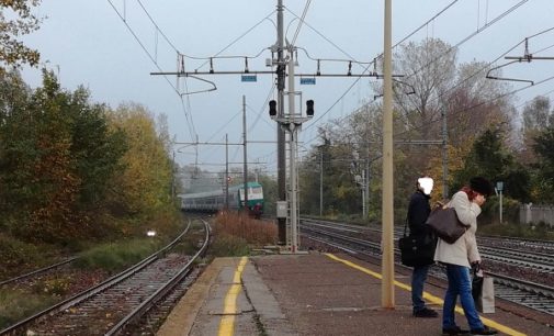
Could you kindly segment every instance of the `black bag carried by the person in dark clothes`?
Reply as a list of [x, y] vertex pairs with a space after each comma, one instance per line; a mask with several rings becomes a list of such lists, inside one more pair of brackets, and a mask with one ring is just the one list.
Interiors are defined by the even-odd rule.
[[[407, 222], [407, 221], [406, 221]], [[434, 248], [437, 238], [431, 231], [416, 235], [406, 235], [407, 223], [404, 226], [404, 236], [398, 239], [400, 261], [405, 266], [426, 266], [434, 262]]]

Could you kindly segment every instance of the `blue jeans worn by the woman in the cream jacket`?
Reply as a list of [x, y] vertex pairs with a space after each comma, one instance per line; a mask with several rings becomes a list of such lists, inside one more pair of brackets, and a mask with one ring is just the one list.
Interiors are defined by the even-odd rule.
[[456, 306], [457, 295], [460, 295], [462, 309], [464, 310], [470, 328], [484, 328], [472, 296], [470, 268], [452, 264], [445, 265], [446, 277], [449, 278], [449, 288], [446, 289], [446, 294], [444, 295], [444, 306], [442, 307], [442, 327], [453, 328], [456, 326], [454, 321], [454, 309]]

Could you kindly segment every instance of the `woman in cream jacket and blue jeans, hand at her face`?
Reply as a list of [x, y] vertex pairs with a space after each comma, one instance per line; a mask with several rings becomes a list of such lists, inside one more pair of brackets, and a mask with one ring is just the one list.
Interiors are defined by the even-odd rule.
[[[486, 198], [493, 192], [488, 180], [475, 177], [470, 180], [470, 186], [456, 192], [448, 206], [454, 208], [457, 219], [468, 225], [466, 232], [453, 244], [439, 238], [434, 251], [434, 260], [446, 267], [449, 285], [444, 294], [442, 309], [442, 334], [443, 335], [495, 335], [495, 329], [483, 324], [475, 309], [472, 296], [472, 280], [470, 276], [471, 265], [480, 264], [475, 233], [477, 231], [477, 216]], [[454, 309], [457, 296], [464, 310], [465, 317], [471, 331], [460, 328], [455, 323]]]

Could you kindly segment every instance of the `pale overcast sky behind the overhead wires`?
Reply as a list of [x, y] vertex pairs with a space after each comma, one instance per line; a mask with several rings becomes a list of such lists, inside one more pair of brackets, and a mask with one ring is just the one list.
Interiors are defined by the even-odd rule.
[[[309, 2], [306, 24], [294, 44], [314, 59], [368, 63], [383, 51], [384, 0], [283, 2], [290, 42]], [[176, 76], [151, 76], [150, 72], [176, 71], [177, 52], [186, 55], [188, 71], [207, 71], [207, 59], [214, 56], [219, 56], [213, 59], [215, 71], [244, 70], [245, 57], [249, 57], [250, 70], [269, 70], [265, 59], [271, 57], [269, 47], [276, 42], [275, 8], [276, 0], [44, 0], [37, 13], [46, 19], [41, 30], [25, 37], [25, 42], [41, 52], [43, 63], [59, 75], [64, 88], [75, 90], [83, 85], [90, 89], [93, 101], [106, 102], [113, 108], [132, 101], [155, 114], [163, 113], [178, 142], [195, 141], [196, 134], [200, 142], [224, 142], [226, 133], [230, 143], [241, 142], [242, 96], [247, 100], [248, 139], [272, 142], [276, 131], [268, 115], [267, 101], [275, 99], [276, 90], [271, 75], [259, 75], [257, 82], [241, 82], [240, 75], [201, 77], [210, 82], [194, 78], [178, 82]], [[491, 61], [525, 37], [554, 26], [552, 0], [393, 0], [393, 44], [445, 8], [407, 41], [437, 37], [451, 45], [460, 44], [459, 61]], [[554, 57], [552, 45], [553, 31], [530, 38], [529, 52]], [[298, 74], [312, 74], [317, 68], [317, 63], [305, 52], [298, 53], [299, 65], [295, 69]], [[521, 44], [509, 55], [522, 56], [523, 52]], [[504, 75], [540, 82], [554, 76], [553, 61], [511, 65], [504, 68]], [[500, 58], [497, 65], [505, 63]], [[321, 60], [320, 68], [321, 72], [346, 74], [348, 64]], [[361, 65], [352, 66], [352, 72], [361, 71]], [[23, 75], [31, 86], [39, 83], [38, 70], [25, 69]], [[295, 89], [302, 91], [304, 101], [313, 99], [316, 108], [314, 120], [304, 124], [301, 135], [304, 146], [317, 144], [318, 125], [347, 115], [363, 101], [373, 100], [376, 93], [370, 86], [373, 80], [317, 78], [316, 85], [301, 86], [297, 79]], [[550, 94], [553, 83], [554, 80], [545, 81], [518, 92], [518, 104], [538, 94]], [[183, 96], [182, 100], [176, 92], [176, 89], [202, 91], [214, 86], [217, 90]], [[512, 83], [513, 89], [527, 86]], [[241, 161], [242, 148], [229, 148], [229, 161]], [[251, 144], [248, 161], [259, 161], [259, 168], [275, 173], [275, 148], [273, 143]], [[174, 149], [181, 165], [196, 160], [192, 147], [180, 145]], [[225, 163], [224, 147], [200, 146], [197, 161], [204, 164], [202, 169], [222, 170], [217, 165]]]

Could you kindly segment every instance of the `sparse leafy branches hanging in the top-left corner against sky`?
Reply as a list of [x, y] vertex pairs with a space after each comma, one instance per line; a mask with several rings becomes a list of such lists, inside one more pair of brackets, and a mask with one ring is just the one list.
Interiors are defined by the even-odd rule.
[[0, 0], [0, 71], [5, 66], [36, 66], [39, 54], [18, 38], [38, 30], [41, 20], [31, 13], [41, 0]]

